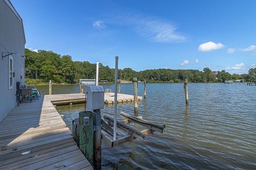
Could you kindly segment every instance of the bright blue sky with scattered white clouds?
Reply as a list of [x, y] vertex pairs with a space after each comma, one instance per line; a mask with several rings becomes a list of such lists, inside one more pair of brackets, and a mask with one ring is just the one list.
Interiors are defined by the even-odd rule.
[[11, 0], [31, 51], [115, 68], [256, 67], [256, 0]]

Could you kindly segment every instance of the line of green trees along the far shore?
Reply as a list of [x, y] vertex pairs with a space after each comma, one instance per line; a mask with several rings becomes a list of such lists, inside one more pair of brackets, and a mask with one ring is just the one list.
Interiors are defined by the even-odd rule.
[[[73, 61], [70, 55], [59, 55], [53, 51], [39, 50], [38, 53], [25, 49], [26, 78], [55, 83], [79, 83], [79, 79], [96, 78], [96, 64], [88, 61]], [[99, 81], [114, 82], [115, 69], [99, 63]], [[230, 74], [225, 70], [212, 71], [210, 68], [199, 70], [154, 69], [136, 72], [132, 68], [118, 69], [118, 79], [132, 81], [133, 77], [146, 82], [224, 82], [242, 79], [256, 81], [256, 68], [248, 74]]]

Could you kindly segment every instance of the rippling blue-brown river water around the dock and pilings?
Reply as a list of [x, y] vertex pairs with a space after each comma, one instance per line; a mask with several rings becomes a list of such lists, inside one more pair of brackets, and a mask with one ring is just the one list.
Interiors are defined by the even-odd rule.
[[[114, 84], [100, 86], [114, 92]], [[36, 88], [48, 94], [48, 86]], [[132, 84], [120, 89], [133, 94]], [[146, 92], [146, 100], [138, 103], [139, 116], [165, 123], [164, 133], [114, 148], [102, 141], [102, 169], [256, 169], [256, 86], [189, 83], [187, 107], [182, 83], [146, 84]], [[79, 85], [52, 86], [52, 94], [64, 93], [79, 93]], [[144, 96], [144, 84], [138, 84], [138, 96]], [[134, 114], [133, 103], [117, 109], [118, 115]], [[72, 129], [84, 104], [57, 110]], [[105, 105], [101, 113], [113, 116], [114, 105]]]

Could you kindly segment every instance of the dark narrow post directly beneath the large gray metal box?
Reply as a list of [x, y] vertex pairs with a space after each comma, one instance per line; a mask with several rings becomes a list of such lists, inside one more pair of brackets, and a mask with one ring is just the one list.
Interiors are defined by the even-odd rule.
[[95, 170], [101, 170], [101, 115], [100, 109], [93, 110], [93, 166]]

